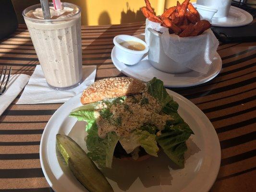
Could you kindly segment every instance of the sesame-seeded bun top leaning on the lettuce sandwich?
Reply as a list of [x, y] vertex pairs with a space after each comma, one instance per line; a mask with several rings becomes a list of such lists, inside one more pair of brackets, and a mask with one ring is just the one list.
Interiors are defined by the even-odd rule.
[[131, 77], [111, 77], [99, 80], [87, 87], [81, 103], [87, 104], [103, 99], [142, 93], [145, 84]]

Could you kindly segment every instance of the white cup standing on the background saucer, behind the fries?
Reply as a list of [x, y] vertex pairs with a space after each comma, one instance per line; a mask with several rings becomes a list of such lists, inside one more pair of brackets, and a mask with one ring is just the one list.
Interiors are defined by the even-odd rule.
[[226, 17], [229, 14], [232, 0], [196, 0], [196, 4], [204, 5], [212, 9], [217, 9], [213, 18]]

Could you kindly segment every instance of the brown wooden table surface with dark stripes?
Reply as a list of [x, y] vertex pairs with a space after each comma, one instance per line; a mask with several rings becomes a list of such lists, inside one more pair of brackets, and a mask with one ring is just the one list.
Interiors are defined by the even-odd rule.
[[[83, 65], [97, 65], [96, 80], [124, 76], [110, 53], [116, 35], [144, 33], [145, 23], [82, 26]], [[212, 192], [256, 191], [256, 43], [220, 44], [220, 74], [206, 84], [172, 89], [209, 118], [218, 133], [221, 167]], [[38, 59], [25, 25], [0, 41], [0, 65], [31, 75]], [[15, 105], [0, 116], [0, 192], [50, 192], [39, 161], [44, 128], [61, 104]]]

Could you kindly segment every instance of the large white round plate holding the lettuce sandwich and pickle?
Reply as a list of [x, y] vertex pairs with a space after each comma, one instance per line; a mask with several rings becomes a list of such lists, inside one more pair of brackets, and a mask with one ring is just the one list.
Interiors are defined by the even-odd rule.
[[[163, 153], [145, 161], [114, 160], [112, 169], [104, 169], [115, 192], [208, 192], [220, 166], [220, 145], [214, 127], [206, 115], [188, 99], [168, 90], [179, 103], [179, 114], [195, 132], [187, 141], [185, 168], [171, 168]], [[40, 162], [49, 185], [55, 192], [85, 192], [56, 151], [56, 134], [73, 138], [86, 152], [85, 122], [68, 117], [81, 106], [80, 96], [63, 104], [50, 118], [40, 143]], [[88, 173], [89, 174], [89, 173]]]

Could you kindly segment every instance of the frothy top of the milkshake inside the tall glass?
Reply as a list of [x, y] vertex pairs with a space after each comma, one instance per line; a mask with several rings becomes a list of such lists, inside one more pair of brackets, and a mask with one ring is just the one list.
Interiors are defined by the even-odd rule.
[[[61, 10], [55, 10], [54, 7], [50, 8], [51, 19], [64, 19], [73, 16], [78, 12], [78, 9], [73, 9], [70, 7], [62, 7]], [[42, 8], [37, 8], [36, 10], [30, 10], [26, 13], [26, 16], [34, 19], [44, 19]]]

